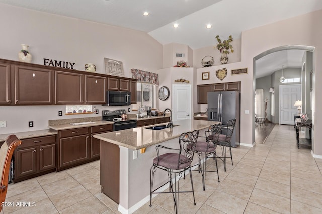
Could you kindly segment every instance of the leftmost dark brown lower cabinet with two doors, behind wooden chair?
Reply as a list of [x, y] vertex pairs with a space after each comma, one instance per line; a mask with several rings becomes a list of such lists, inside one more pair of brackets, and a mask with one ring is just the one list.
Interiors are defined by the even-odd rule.
[[56, 135], [22, 140], [14, 157], [14, 182], [56, 171]]

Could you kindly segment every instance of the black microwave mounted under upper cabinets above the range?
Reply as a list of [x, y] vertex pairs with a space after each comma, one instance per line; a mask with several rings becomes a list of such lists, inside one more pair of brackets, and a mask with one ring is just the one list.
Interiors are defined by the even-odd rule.
[[129, 106], [131, 105], [131, 92], [106, 91], [106, 102], [103, 106]]

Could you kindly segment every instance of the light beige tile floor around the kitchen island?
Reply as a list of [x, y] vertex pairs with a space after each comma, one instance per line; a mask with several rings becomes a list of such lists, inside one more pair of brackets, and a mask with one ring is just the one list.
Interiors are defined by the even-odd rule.
[[[192, 194], [181, 194], [180, 213], [322, 213], [322, 159], [314, 159], [310, 149], [297, 149], [293, 126], [276, 125], [265, 144], [253, 148], [233, 148], [234, 165], [218, 161], [220, 183], [215, 173], [207, 173], [206, 191], [201, 176], [194, 171], [197, 205]], [[219, 151], [218, 151], [219, 153]], [[214, 161], [207, 161], [214, 169]], [[10, 184], [4, 213], [118, 213], [118, 205], [101, 193], [99, 161], [61, 172]], [[189, 176], [180, 181], [190, 190]], [[17, 202], [35, 202], [18, 206]], [[169, 194], [152, 199], [135, 213], [174, 213]]]

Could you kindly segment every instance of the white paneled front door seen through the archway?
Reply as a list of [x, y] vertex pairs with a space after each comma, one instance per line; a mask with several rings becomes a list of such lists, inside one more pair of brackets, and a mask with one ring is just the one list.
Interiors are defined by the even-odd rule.
[[280, 86], [280, 124], [294, 125], [297, 114], [296, 100], [301, 100], [301, 85]]

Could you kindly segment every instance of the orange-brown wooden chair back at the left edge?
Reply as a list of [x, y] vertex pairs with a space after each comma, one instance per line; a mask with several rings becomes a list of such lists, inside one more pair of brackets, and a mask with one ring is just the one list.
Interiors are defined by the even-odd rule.
[[[15, 149], [21, 144], [16, 135], [10, 135], [0, 147], [0, 203], [6, 199], [11, 158]], [[2, 206], [0, 206], [0, 211]]]

